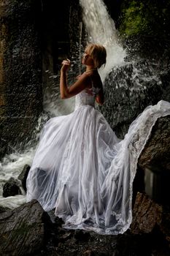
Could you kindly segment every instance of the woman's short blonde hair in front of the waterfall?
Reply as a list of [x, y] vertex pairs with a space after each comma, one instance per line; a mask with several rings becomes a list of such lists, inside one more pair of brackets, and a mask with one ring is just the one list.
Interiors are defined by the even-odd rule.
[[107, 50], [103, 45], [90, 43], [85, 50], [88, 50], [88, 54], [94, 61], [95, 68], [99, 68], [107, 63]]

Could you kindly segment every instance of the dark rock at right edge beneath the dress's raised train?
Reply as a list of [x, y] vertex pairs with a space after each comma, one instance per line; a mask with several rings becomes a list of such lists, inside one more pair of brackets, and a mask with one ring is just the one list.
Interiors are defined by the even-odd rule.
[[170, 116], [158, 118], [152, 127], [150, 138], [139, 157], [139, 166], [145, 173], [148, 194], [163, 206], [170, 206]]

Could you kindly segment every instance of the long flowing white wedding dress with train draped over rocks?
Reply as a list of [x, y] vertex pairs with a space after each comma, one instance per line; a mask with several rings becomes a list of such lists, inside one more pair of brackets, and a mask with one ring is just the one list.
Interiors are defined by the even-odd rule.
[[77, 94], [74, 112], [50, 118], [27, 178], [27, 201], [36, 199], [67, 229], [124, 233], [132, 220], [132, 184], [152, 126], [170, 103], [150, 105], [119, 140], [95, 109], [95, 96]]

